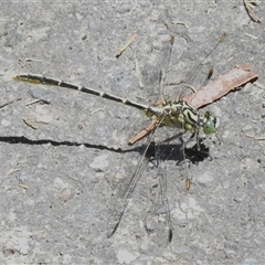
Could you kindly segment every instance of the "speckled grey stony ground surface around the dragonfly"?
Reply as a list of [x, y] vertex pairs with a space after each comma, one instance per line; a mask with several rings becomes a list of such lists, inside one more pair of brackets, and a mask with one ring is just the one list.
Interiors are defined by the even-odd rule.
[[[264, 23], [252, 22], [242, 1], [21, 2], [0, 3], [0, 104], [22, 97], [0, 109], [1, 264], [264, 264], [264, 141], [246, 136], [265, 134]], [[264, 3], [254, 11], [264, 20]], [[124, 105], [15, 82], [12, 75], [45, 74], [141, 100], [155, 82], [162, 40], [174, 35], [170, 72], [181, 80], [222, 32], [227, 38], [211, 56], [213, 78], [247, 63], [258, 83], [209, 106], [221, 118], [222, 144], [215, 136], [205, 140], [213, 159], [190, 165], [191, 189], [186, 190], [187, 176], [176, 159], [149, 165], [107, 239], [115, 194], [146, 145], [145, 139], [128, 147], [127, 140], [148, 119]], [[132, 33], [137, 40], [116, 59]], [[32, 96], [50, 104], [26, 106]], [[161, 128], [157, 137], [170, 134]], [[171, 243], [165, 215], [153, 210], [161, 201], [161, 173]]]

